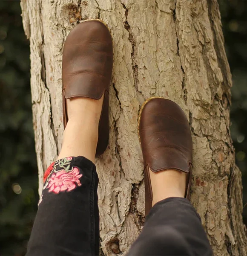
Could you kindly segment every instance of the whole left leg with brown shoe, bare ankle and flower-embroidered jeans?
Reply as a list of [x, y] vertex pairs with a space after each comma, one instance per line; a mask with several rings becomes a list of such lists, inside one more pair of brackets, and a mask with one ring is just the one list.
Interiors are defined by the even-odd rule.
[[[27, 255], [98, 255], [95, 154], [108, 143], [112, 38], [98, 20], [75, 27], [63, 51], [63, 145], [44, 175]], [[103, 136], [104, 135], [104, 136]]]

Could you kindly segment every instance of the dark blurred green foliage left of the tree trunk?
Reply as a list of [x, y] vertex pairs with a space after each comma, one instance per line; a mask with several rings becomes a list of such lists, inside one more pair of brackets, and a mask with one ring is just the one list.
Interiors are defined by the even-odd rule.
[[23, 255], [37, 211], [29, 41], [19, 1], [0, 1], [0, 255]]

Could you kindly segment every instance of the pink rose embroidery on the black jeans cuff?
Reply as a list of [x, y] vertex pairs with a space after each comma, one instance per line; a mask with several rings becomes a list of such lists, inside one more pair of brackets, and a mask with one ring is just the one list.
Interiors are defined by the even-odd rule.
[[65, 170], [55, 172], [50, 177], [47, 188], [49, 188], [49, 192], [54, 192], [55, 194], [66, 190], [71, 191], [76, 188], [76, 184], [81, 186], [79, 180], [81, 176], [82, 174], [80, 174], [77, 167], [74, 167], [71, 172], [66, 172]]

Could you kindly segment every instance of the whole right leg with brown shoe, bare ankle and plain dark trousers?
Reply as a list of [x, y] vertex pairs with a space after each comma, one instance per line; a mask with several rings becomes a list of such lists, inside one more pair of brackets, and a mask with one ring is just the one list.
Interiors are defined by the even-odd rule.
[[147, 216], [128, 255], [213, 255], [201, 219], [186, 199], [192, 139], [185, 114], [172, 101], [150, 99], [141, 108], [138, 124]]

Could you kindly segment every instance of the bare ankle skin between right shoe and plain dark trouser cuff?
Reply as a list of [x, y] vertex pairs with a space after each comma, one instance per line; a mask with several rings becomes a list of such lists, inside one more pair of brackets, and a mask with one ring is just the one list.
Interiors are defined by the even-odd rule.
[[149, 175], [153, 194], [152, 205], [169, 197], [184, 198], [186, 173], [172, 169], [155, 173], [149, 169]]

